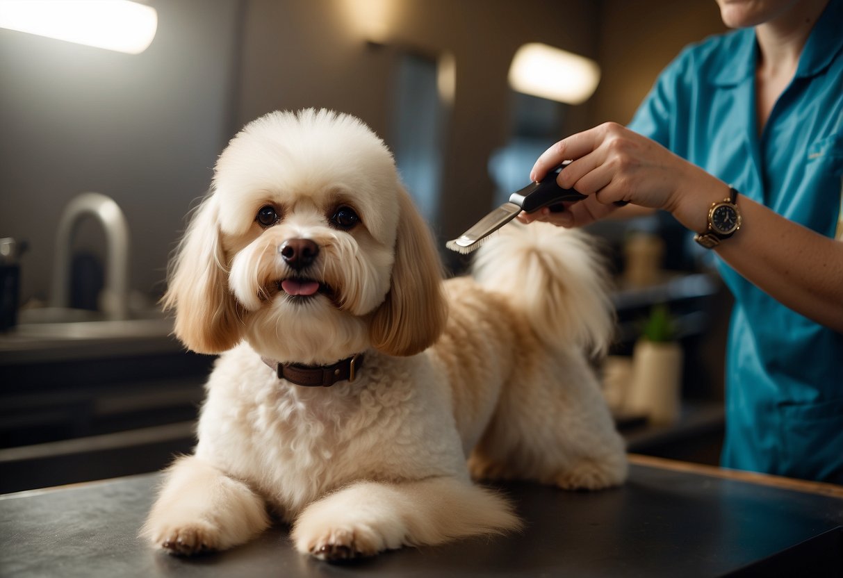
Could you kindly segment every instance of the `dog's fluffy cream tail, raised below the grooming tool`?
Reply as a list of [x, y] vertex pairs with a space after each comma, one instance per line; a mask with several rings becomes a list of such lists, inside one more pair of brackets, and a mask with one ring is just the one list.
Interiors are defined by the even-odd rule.
[[507, 297], [551, 347], [572, 342], [597, 355], [612, 338], [609, 276], [597, 239], [545, 222], [512, 222], [477, 251], [472, 275]]

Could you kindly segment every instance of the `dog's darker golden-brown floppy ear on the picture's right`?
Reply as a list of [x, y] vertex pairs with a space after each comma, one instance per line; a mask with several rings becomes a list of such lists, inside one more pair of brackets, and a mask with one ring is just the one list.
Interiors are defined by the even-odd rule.
[[379, 351], [411, 356], [437, 340], [445, 327], [448, 307], [442, 289], [442, 263], [427, 223], [405, 190], [400, 190], [399, 198], [392, 280], [369, 332], [373, 347]]

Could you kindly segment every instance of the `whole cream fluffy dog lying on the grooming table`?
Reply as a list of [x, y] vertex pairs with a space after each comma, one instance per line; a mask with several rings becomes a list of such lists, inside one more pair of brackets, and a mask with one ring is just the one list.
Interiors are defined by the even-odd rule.
[[[142, 530], [160, 548], [228, 549], [271, 512], [300, 552], [346, 559], [518, 528], [470, 474], [625, 479], [588, 364], [612, 328], [588, 238], [513, 224], [473, 278], [443, 282], [393, 158], [351, 116], [276, 112], [234, 137], [165, 304], [185, 345], [222, 355], [196, 451], [169, 468]], [[275, 368], [338, 360], [354, 378], [331, 387]]]

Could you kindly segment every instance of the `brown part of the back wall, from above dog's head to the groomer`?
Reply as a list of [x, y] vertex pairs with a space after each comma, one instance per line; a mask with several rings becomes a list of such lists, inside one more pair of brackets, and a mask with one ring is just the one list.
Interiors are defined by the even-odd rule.
[[[366, 44], [360, 15], [385, 30], [390, 48]], [[545, 42], [603, 69], [594, 97], [566, 110], [561, 137], [628, 121], [681, 47], [720, 29], [713, 0], [248, 0], [235, 118], [244, 124], [270, 110], [328, 107], [360, 116], [389, 144], [394, 48], [453, 53], [456, 100], [434, 223], [451, 238], [491, 204], [486, 164], [509, 136], [507, 69], [518, 46]]]

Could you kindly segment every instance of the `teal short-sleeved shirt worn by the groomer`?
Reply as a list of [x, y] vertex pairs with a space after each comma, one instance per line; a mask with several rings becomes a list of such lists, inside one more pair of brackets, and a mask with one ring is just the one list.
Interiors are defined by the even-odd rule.
[[[843, 199], [843, 0], [831, 0], [815, 24], [760, 136], [757, 58], [754, 29], [690, 45], [630, 128], [834, 238]], [[843, 484], [843, 334], [781, 305], [719, 258], [717, 267], [735, 297], [722, 465]]]

